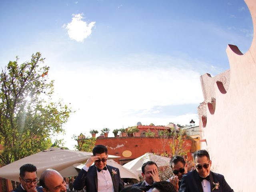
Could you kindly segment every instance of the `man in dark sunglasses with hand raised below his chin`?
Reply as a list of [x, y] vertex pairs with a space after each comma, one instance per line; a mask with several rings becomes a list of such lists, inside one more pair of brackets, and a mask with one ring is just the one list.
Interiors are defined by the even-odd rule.
[[171, 182], [176, 191], [178, 191], [180, 188], [182, 176], [188, 173], [188, 164], [185, 162], [182, 156], [177, 155], [173, 156], [170, 160], [170, 167], [172, 168], [172, 173], [174, 176], [172, 176], [167, 181]]

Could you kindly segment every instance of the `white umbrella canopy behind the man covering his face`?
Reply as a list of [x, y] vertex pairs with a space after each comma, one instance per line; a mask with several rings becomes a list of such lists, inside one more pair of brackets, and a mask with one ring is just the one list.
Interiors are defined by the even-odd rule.
[[141, 174], [142, 164], [144, 164], [147, 161], [154, 161], [158, 167], [162, 167], [162, 166], [169, 166], [170, 160], [171, 159], [168, 157], [155, 155], [153, 153], [145, 153], [144, 155], [124, 164], [123, 167], [133, 171], [137, 171], [139, 174]]

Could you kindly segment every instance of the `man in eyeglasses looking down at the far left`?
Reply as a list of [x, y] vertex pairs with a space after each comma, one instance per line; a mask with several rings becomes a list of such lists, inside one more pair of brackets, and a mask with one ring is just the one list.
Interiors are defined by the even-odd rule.
[[38, 178], [36, 176], [36, 166], [24, 164], [20, 167], [20, 184], [13, 192], [43, 192], [41, 187], [36, 186]]

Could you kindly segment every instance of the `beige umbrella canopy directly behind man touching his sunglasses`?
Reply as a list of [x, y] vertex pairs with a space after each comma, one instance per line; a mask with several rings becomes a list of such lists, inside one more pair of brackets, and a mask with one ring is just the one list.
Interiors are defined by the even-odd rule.
[[[107, 164], [110, 165], [110, 166], [118, 168], [119, 171], [120, 171], [120, 177], [121, 178], [134, 178], [134, 179], [137, 179], [138, 181], [140, 180], [139, 175], [136, 171], [127, 169], [127, 168], [123, 167], [122, 165], [118, 164], [117, 162], [115, 162], [112, 159], [108, 159]], [[84, 166], [84, 164], [79, 164], [79, 163], [74, 164], [74, 167], [78, 168], [78, 169], [82, 169], [83, 166]]]

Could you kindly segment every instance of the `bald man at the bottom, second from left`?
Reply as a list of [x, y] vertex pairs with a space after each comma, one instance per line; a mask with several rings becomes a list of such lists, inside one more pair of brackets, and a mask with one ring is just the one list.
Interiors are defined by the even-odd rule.
[[60, 173], [53, 169], [46, 169], [40, 176], [40, 184], [44, 192], [66, 192], [66, 182]]

